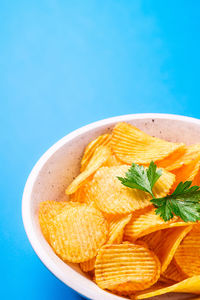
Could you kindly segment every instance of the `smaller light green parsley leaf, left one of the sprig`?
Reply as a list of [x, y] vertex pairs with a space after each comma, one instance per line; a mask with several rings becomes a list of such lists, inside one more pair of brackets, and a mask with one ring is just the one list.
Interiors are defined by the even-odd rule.
[[153, 186], [156, 181], [162, 175], [162, 170], [157, 169], [156, 164], [152, 161], [148, 168], [143, 166], [132, 164], [128, 172], [125, 174], [126, 177], [117, 177], [121, 183], [132, 189], [142, 190], [153, 195]]

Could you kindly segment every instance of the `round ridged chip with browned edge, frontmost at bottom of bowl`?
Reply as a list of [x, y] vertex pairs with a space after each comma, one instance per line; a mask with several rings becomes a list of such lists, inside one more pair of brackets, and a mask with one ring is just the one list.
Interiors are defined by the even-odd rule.
[[153, 285], [160, 276], [160, 262], [140, 245], [104, 245], [95, 263], [96, 282], [102, 289], [129, 293]]

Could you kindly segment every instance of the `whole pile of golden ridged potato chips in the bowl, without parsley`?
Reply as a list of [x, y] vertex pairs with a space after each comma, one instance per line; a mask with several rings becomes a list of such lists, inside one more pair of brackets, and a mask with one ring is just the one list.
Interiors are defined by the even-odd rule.
[[200, 185], [200, 144], [186, 146], [118, 123], [86, 147], [70, 201], [40, 203], [44, 237], [65, 262], [79, 263], [102, 289], [131, 299], [169, 292], [200, 294], [200, 225], [165, 222], [151, 196], [121, 184], [134, 162], [162, 168], [153, 192], [164, 197], [180, 181]]

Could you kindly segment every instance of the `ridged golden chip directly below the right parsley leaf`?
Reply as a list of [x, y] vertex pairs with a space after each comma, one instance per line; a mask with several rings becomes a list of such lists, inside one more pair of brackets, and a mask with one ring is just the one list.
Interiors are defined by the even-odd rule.
[[[187, 223], [187, 225], [190, 224], [190, 222]], [[185, 225], [185, 222], [176, 216], [165, 222], [159, 215], [156, 215], [155, 208], [147, 207], [133, 213], [131, 221], [124, 228], [124, 240], [134, 242], [139, 237], [157, 230]]]

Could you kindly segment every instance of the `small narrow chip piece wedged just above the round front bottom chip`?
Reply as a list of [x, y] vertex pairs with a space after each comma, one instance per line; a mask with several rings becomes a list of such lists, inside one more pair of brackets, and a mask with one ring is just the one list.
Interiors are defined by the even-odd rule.
[[107, 244], [120, 244], [123, 239], [124, 227], [130, 221], [132, 214], [114, 215], [108, 218], [109, 232]]

